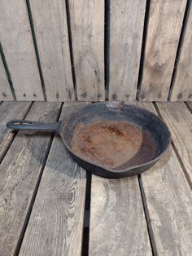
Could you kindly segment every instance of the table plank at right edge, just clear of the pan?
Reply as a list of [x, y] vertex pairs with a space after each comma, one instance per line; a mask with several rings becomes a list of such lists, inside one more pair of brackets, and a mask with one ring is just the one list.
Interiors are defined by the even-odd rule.
[[159, 112], [166, 121], [192, 183], [192, 116], [185, 103], [159, 103]]

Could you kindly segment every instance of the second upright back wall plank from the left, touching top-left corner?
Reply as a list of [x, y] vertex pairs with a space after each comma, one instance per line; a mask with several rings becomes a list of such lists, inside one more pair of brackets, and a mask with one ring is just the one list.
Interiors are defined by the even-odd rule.
[[43, 100], [33, 37], [24, 0], [2, 0], [0, 38], [16, 99]]

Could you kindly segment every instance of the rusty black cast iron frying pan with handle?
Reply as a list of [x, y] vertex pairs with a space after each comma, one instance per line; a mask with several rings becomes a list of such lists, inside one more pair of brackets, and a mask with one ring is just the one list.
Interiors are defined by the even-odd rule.
[[106, 178], [141, 174], [171, 142], [164, 121], [145, 108], [120, 101], [85, 105], [52, 124], [12, 120], [7, 127], [57, 132], [80, 166]]

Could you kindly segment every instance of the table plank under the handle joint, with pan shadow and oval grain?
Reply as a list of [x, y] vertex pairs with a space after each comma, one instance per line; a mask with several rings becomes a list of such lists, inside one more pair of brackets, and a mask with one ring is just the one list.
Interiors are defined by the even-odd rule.
[[[63, 107], [61, 119], [80, 105]], [[20, 255], [81, 255], [86, 172], [55, 136]], [[51, 222], [50, 222], [51, 219]]]

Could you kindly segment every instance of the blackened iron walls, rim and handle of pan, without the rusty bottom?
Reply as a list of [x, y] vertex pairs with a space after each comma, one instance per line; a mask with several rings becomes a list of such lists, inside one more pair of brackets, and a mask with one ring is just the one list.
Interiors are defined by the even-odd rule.
[[[91, 124], [95, 120], [116, 122], [128, 121], [129, 123], [140, 127], [142, 131], [146, 131], [151, 138], [153, 138], [155, 152], [152, 153], [151, 148], [147, 148], [146, 143], [145, 150], [147, 152], [147, 160], [145, 161], [144, 154], [142, 162], [139, 162], [141, 159], [139, 158], [140, 155], [138, 155], [134, 159], [136, 161], [134, 161], [133, 165], [130, 166], [130, 160], [125, 162], [120, 169], [107, 169], [106, 166], [99, 166], [94, 161], [92, 162], [85, 157], [78, 156], [72, 150], [71, 142], [73, 132], [79, 124]], [[55, 124], [41, 124], [34, 121], [12, 120], [7, 123], [7, 127], [15, 130], [53, 130], [59, 133], [63, 139], [63, 143], [68, 148], [68, 151], [80, 166], [85, 170], [106, 178], [124, 178], [141, 174], [143, 171], [148, 170], [151, 166], [155, 165], [156, 161], [158, 161], [159, 158], [167, 152], [168, 146], [171, 143], [171, 134], [168, 127], [164, 121], [154, 113], [151, 113], [144, 108], [138, 108], [135, 105], [124, 104], [124, 102], [118, 101], [86, 105], [85, 107], [73, 112], [68, 118], [66, 118], [66, 120], [56, 122]], [[143, 152], [145, 152], [145, 150]]]

